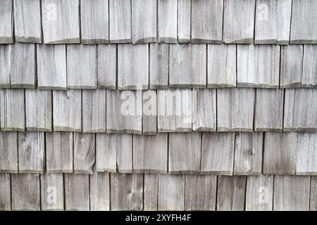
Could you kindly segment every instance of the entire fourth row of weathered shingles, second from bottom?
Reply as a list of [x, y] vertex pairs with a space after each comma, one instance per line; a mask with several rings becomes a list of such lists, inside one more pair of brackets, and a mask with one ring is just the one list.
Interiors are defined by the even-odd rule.
[[7, 173], [317, 174], [315, 133], [0, 134]]

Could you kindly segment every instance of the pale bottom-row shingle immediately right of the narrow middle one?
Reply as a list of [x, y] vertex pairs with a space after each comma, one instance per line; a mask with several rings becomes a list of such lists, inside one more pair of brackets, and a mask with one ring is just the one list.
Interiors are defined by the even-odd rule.
[[159, 174], [158, 210], [184, 210], [185, 175]]

